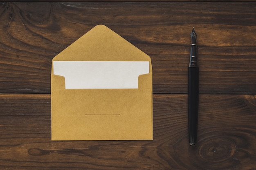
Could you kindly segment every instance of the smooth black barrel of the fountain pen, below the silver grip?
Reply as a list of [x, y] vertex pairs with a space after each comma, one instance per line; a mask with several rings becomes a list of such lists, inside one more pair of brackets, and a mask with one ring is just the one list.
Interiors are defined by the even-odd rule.
[[189, 115], [189, 143], [195, 145], [198, 130], [198, 100], [199, 100], [199, 68], [189, 67], [189, 93], [188, 93], [188, 115]]

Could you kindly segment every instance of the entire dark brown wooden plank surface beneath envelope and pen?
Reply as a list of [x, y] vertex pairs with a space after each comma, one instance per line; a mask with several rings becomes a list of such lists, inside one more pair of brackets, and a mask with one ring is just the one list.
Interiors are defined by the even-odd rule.
[[[153, 141], [51, 141], [52, 58], [97, 24], [150, 55]], [[187, 67], [198, 34], [198, 144]], [[1, 2], [0, 169], [256, 170], [256, 2]]]

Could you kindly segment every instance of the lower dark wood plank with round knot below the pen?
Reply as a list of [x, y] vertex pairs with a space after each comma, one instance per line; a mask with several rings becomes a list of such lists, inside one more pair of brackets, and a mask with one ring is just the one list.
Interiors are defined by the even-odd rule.
[[198, 145], [187, 95], [153, 95], [153, 141], [51, 141], [49, 94], [0, 94], [1, 169], [254, 169], [256, 95], [200, 95]]

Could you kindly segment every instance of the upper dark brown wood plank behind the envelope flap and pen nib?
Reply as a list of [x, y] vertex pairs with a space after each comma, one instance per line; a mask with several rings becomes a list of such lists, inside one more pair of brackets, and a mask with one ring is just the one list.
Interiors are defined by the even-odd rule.
[[0, 92], [50, 93], [52, 58], [97, 24], [150, 55], [153, 93], [187, 93], [190, 32], [200, 93], [256, 93], [256, 2], [0, 4]]

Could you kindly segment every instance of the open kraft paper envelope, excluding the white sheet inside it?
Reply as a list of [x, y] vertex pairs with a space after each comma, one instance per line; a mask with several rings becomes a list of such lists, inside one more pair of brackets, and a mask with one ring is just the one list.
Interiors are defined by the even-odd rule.
[[66, 89], [51, 74], [52, 140], [152, 140], [152, 65], [148, 55], [98, 25], [56, 55], [54, 61], [148, 61], [138, 88]]

